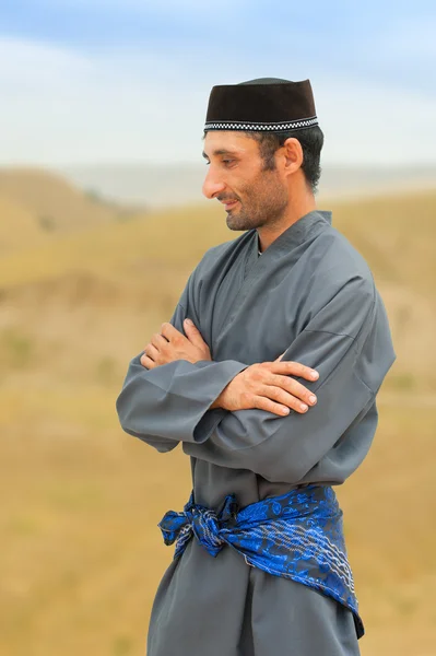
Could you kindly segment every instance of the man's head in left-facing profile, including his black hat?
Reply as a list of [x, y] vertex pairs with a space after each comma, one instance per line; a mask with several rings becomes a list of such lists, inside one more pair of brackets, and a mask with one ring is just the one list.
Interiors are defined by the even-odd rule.
[[232, 230], [278, 224], [290, 202], [316, 191], [322, 142], [308, 80], [215, 86], [204, 128], [210, 168], [203, 194], [225, 204]]

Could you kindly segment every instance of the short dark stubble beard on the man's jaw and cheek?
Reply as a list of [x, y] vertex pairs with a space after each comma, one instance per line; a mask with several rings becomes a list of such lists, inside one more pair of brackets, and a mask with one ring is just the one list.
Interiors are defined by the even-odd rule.
[[[271, 178], [267, 181], [268, 177]], [[273, 172], [262, 172], [257, 180], [241, 189], [245, 201], [227, 212], [226, 223], [231, 230], [252, 230], [280, 223], [287, 206], [288, 195]]]

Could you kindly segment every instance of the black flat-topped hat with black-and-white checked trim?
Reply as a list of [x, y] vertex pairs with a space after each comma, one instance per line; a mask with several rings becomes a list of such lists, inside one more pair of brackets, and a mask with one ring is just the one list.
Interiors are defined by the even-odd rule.
[[213, 86], [204, 131], [287, 132], [317, 125], [309, 80], [260, 78]]

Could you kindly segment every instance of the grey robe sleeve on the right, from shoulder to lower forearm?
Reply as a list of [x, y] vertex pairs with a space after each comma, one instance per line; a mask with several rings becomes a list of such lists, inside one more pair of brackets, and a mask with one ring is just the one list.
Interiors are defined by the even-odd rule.
[[227, 412], [212, 434], [197, 426], [186, 454], [214, 465], [249, 469], [273, 482], [296, 483], [374, 403], [394, 360], [381, 301], [372, 281], [346, 282], [290, 344], [283, 360], [316, 368], [301, 380], [318, 402], [305, 414], [263, 410]]

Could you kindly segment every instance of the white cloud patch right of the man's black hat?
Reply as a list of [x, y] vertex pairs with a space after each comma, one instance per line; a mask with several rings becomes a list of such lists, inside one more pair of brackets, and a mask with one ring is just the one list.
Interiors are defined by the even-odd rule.
[[436, 97], [346, 78], [315, 80], [314, 86], [329, 162], [435, 163]]

